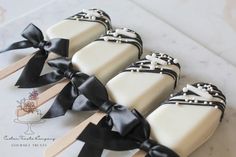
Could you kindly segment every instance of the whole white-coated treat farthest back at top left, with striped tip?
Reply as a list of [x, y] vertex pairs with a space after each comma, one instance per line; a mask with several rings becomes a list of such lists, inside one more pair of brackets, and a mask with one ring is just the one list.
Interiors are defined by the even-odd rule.
[[79, 12], [47, 29], [49, 39], [69, 40], [69, 56], [111, 29], [110, 17], [102, 10], [88, 9]]

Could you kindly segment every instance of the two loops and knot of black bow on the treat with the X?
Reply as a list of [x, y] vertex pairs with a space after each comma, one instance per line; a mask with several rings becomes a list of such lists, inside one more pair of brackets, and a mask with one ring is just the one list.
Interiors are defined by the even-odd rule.
[[136, 116], [127, 107], [109, 100], [105, 86], [96, 77], [91, 76], [87, 79], [79, 87], [79, 91], [97, 109], [108, 114], [112, 119], [115, 129], [120, 134], [125, 135], [139, 123]]

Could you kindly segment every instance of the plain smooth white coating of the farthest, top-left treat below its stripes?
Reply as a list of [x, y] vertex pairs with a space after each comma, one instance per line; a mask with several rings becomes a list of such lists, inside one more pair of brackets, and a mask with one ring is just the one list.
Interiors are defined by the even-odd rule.
[[47, 30], [48, 38], [69, 39], [69, 56], [89, 42], [105, 33], [105, 27], [100, 23], [63, 20]]

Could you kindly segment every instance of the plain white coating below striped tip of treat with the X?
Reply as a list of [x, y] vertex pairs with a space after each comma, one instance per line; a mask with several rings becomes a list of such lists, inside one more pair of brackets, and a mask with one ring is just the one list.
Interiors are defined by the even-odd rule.
[[[140, 65], [144, 66], [144, 64]], [[159, 65], [159, 67], [172, 69], [178, 75], [180, 73], [179, 68], [175, 65]], [[112, 101], [129, 108], [135, 108], [142, 115], [150, 113], [174, 89], [175, 80], [169, 75], [140, 72], [143, 70], [140, 67], [127, 69], [130, 71], [122, 72], [112, 78], [106, 88]]]

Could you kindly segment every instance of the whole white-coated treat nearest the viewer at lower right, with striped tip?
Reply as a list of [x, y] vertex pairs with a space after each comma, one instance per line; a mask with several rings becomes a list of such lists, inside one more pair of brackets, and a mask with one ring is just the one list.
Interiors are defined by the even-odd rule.
[[187, 85], [147, 117], [152, 138], [180, 157], [187, 157], [214, 133], [225, 104], [216, 86]]

